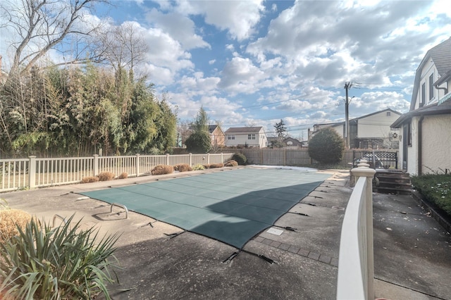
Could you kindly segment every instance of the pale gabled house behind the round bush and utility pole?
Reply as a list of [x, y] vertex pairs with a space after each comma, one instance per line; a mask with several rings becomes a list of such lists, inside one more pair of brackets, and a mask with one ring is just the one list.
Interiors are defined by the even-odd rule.
[[[401, 113], [391, 108], [376, 111], [350, 120], [350, 148], [351, 149], [397, 149], [399, 136], [398, 130], [393, 130], [390, 125], [400, 118]], [[316, 132], [324, 127], [332, 127], [340, 137], [345, 137], [345, 122], [323, 123], [314, 125], [314, 130], [309, 130], [309, 140]]]

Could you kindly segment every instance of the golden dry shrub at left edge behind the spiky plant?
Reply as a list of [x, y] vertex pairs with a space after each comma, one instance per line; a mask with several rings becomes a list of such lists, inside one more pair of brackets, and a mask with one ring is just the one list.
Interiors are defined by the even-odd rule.
[[19, 209], [5, 209], [0, 211], [0, 244], [18, 235], [18, 228], [24, 228], [31, 220], [30, 213]]

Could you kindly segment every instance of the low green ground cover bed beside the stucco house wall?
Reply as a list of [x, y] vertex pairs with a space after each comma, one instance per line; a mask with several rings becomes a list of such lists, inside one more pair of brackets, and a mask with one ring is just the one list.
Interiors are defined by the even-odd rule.
[[451, 175], [428, 174], [412, 176], [412, 185], [424, 199], [437, 205], [451, 216]]

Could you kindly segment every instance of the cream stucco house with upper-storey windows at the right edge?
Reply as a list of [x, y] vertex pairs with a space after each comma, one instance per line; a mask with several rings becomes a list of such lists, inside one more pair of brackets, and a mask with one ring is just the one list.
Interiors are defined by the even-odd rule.
[[451, 38], [426, 52], [416, 69], [410, 110], [400, 128], [399, 161], [411, 175], [451, 169]]

